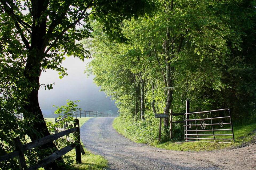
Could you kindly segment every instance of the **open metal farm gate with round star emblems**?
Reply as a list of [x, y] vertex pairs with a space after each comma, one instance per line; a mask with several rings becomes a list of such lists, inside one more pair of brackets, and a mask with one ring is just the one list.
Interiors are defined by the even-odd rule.
[[184, 114], [185, 142], [235, 142], [229, 109]]

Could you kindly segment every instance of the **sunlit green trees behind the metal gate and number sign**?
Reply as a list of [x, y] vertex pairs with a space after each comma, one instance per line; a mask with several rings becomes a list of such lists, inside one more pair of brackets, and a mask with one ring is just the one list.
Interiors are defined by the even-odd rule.
[[150, 126], [153, 113], [185, 112], [189, 99], [190, 111], [230, 108], [236, 123], [255, 121], [256, 1], [158, 2], [153, 17], [122, 23], [128, 43], [109, 40], [98, 22], [84, 41], [94, 57], [87, 72], [122, 119], [144, 131], [144, 119]]

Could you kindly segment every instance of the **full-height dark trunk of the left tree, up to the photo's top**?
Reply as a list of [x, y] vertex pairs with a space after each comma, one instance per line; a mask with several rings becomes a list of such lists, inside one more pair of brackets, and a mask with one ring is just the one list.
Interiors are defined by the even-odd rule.
[[[28, 130], [28, 136], [30, 139], [36, 140], [38, 138], [50, 135], [46, 123], [43, 118], [42, 111], [38, 103], [38, 90], [39, 90], [39, 77], [41, 75], [41, 63], [45, 58], [45, 35], [46, 35], [46, 16], [42, 16], [42, 13], [47, 9], [45, 1], [32, 1], [32, 13], [33, 24], [31, 33], [30, 48], [28, 49], [27, 61], [25, 70], [23, 73], [27, 87], [25, 95], [24, 105], [24, 118], [26, 119], [28, 126], [32, 129]], [[40, 19], [40, 20], [39, 20]], [[57, 150], [57, 147], [53, 142], [49, 142], [42, 145], [38, 150], [46, 149], [52, 152]], [[39, 155], [39, 159], [49, 156], [51, 153], [46, 152], [46, 155]], [[61, 158], [57, 159], [64, 163]], [[44, 167], [45, 169], [62, 169], [62, 166], [57, 166], [57, 162], [54, 161]]]

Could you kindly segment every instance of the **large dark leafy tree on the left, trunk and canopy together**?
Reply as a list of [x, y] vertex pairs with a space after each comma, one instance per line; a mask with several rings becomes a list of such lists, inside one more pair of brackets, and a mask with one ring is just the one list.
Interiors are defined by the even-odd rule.
[[[122, 20], [150, 15], [153, 8], [150, 0], [0, 0], [0, 155], [12, 150], [13, 137], [26, 134], [36, 140], [50, 135], [38, 90], [40, 86], [53, 87], [40, 85], [40, 74], [54, 69], [62, 78], [67, 75], [61, 66], [66, 56], [88, 57], [89, 52], [78, 41], [92, 36], [90, 19], [101, 23], [109, 38], [124, 42]], [[15, 118], [18, 113], [23, 113], [24, 122]], [[20, 129], [23, 123], [26, 127]], [[41, 149], [55, 151], [57, 147], [50, 142], [37, 152]], [[44, 168], [63, 169], [56, 162]]]

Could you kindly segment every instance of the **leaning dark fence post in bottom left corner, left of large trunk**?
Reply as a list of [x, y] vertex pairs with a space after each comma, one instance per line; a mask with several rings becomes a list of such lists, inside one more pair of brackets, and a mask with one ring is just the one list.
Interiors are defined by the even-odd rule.
[[23, 154], [22, 148], [21, 148], [21, 141], [19, 140], [19, 138], [14, 138], [13, 139], [13, 145], [14, 145], [14, 149], [16, 151], [19, 151], [19, 155], [17, 156], [18, 158], [18, 162], [19, 162], [19, 169], [27, 169], [27, 164], [26, 164], [26, 160], [25, 160], [25, 156]]

